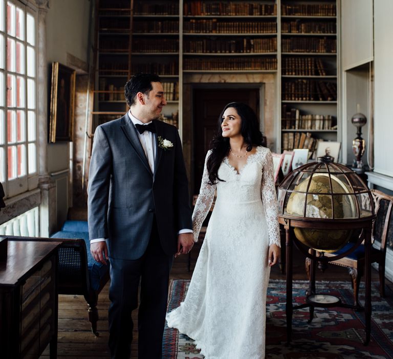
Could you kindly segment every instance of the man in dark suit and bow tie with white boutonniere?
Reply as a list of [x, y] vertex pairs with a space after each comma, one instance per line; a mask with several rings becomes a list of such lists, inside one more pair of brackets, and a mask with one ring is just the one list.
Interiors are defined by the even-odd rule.
[[111, 357], [129, 358], [140, 284], [138, 358], [159, 359], [173, 254], [193, 245], [188, 182], [177, 128], [157, 121], [166, 105], [160, 77], [134, 75], [124, 93], [129, 111], [94, 133], [91, 252], [111, 264]]

